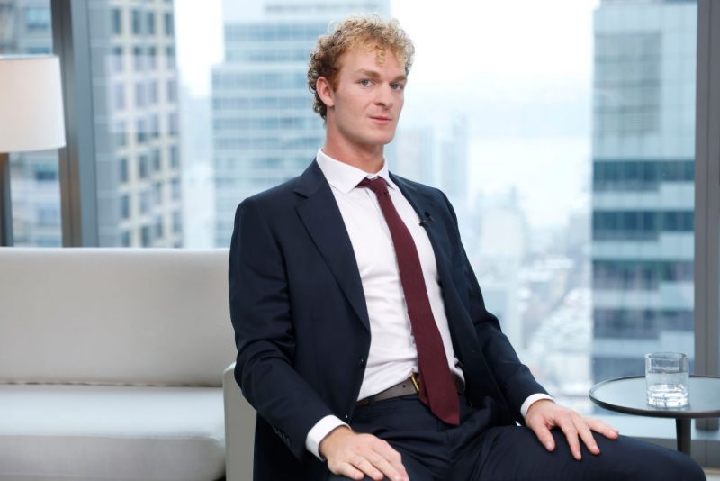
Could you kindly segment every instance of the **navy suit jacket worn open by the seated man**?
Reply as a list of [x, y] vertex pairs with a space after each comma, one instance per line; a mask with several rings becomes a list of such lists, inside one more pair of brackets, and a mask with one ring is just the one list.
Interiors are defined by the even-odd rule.
[[[392, 180], [424, 219], [466, 395], [488, 426], [522, 422], [521, 404], [545, 390], [485, 309], [452, 206], [435, 188]], [[229, 302], [235, 377], [257, 410], [255, 479], [322, 479], [327, 467], [305, 438], [326, 415], [352, 422], [371, 331], [355, 253], [317, 162], [239, 204]]]

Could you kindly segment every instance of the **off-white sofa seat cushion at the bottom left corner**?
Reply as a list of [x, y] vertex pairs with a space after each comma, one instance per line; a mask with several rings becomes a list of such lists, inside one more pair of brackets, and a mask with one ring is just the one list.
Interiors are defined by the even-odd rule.
[[0, 479], [212, 480], [225, 472], [222, 390], [0, 386]]

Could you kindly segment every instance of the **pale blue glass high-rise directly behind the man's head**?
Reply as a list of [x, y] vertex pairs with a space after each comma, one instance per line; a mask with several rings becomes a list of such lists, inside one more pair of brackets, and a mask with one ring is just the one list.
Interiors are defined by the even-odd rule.
[[389, 0], [225, 1], [225, 59], [212, 71], [215, 244], [229, 245], [248, 195], [306, 168], [325, 139], [307, 84], [310, 53], [348, 14], [390, 14]]

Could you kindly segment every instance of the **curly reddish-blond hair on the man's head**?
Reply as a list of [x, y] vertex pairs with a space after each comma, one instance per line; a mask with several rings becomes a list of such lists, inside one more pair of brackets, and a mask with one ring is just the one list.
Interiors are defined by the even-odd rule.
[[383, 64], [385, 51], [390, 50], [401, 64], [405, 64], [405, 75], [410, 72], [415, 46], [400, 27], [397, 20], [383, 21], [378, 15], [352, 15], [336, 25], [334, 32], [321, 35], [310, 56], [308, 86], [315, 95], [312, 110], [323, 120], [328, 114], [327, 105], [318, 95], [318, 78], [328, 79], [330, 86], [338, 87], [340, 56], [357, 46], [366, 46], [377, 51], [377, 61]]

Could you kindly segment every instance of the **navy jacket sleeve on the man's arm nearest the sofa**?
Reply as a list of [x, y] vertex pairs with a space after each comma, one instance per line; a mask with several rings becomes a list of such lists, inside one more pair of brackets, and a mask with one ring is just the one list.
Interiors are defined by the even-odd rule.
[[258, 415], [297, 458], [327, 404], [293, 368], [295, 338], [281, 243], [252, 198], [238, 206], [229, 252], [230, 318], [235, 377]]

